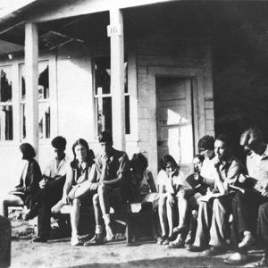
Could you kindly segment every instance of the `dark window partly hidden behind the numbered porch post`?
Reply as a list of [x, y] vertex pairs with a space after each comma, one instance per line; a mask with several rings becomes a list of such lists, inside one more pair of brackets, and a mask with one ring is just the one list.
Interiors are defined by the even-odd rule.
[[[125, 61], [125, 124], [126, 134], [130, 134], [130, 94], [128, 90], [128, 63]], [[110, 81], [110, 56], [95, 58], [95, 107], [97, 135], [104, 130], [112, 133], [112, 94]]]

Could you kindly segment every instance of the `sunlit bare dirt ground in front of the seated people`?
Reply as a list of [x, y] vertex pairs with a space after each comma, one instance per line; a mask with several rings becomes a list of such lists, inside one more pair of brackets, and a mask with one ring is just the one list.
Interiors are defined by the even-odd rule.
[[[18, 219], [19, 218], [19, 219]], [[226, 255], [203, 257], [186, 249], [168, 249], [154, 241], [128, 247], [125, 241], [110, 242], [95, 247], [71, 247], [70, 238], [51, 239], [47, 243], [34, 243], [35, 220], [23, 222], [20, 215], [12, 218], [12, 265], [11, 267], [229, 267], [223, 264]], [[260, 258], [262, 251], [252, 251], [249, 263]]]

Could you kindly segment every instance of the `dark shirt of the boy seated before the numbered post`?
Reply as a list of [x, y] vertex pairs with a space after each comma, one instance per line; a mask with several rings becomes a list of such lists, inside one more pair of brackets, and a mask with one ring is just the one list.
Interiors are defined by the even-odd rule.
[[[102, 174], [103, 164], [101, 161], [101, 156], [96, 158], [96, 172], [97, 179], [100, 180]], [[122, 174], [123, 177], [130, 175], [130, 160], [128, 155], [125, 152], [118, 151], [113, 149], [113, 153], [110, 157], [108, 166], [107, 166], [107, 179], [114, 180]]]

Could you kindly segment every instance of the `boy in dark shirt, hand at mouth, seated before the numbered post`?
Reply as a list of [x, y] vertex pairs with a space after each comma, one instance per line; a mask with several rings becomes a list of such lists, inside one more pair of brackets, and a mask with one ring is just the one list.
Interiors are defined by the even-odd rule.
[[105, 222], [106, 240], [114, 239], [110, 219], [110, 206], [120, 209], [126, 201], [126, 188], [130, 180], [130, 161], [125, 152], [113, 148], [112, 135], [103, 131], [98, 137], [103, 153], [96, 158], [92, 181], [98, 181], [97, 193], [93, 196], [96, 220], [96, 235], [84, 246], [105, 242], [102, 218]]

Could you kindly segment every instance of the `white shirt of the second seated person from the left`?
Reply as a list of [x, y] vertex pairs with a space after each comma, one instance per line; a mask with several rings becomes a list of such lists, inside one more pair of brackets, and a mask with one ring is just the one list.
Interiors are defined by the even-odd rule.
[[65, 155], [63, 160], [57, 166], [57, 160], [54, 158], [47, 166], [44, 171], [44, 175], [54, 179], [55, 177], [62, 177], [66, 175], [67, 169], [70, 165], [69, 158]]

